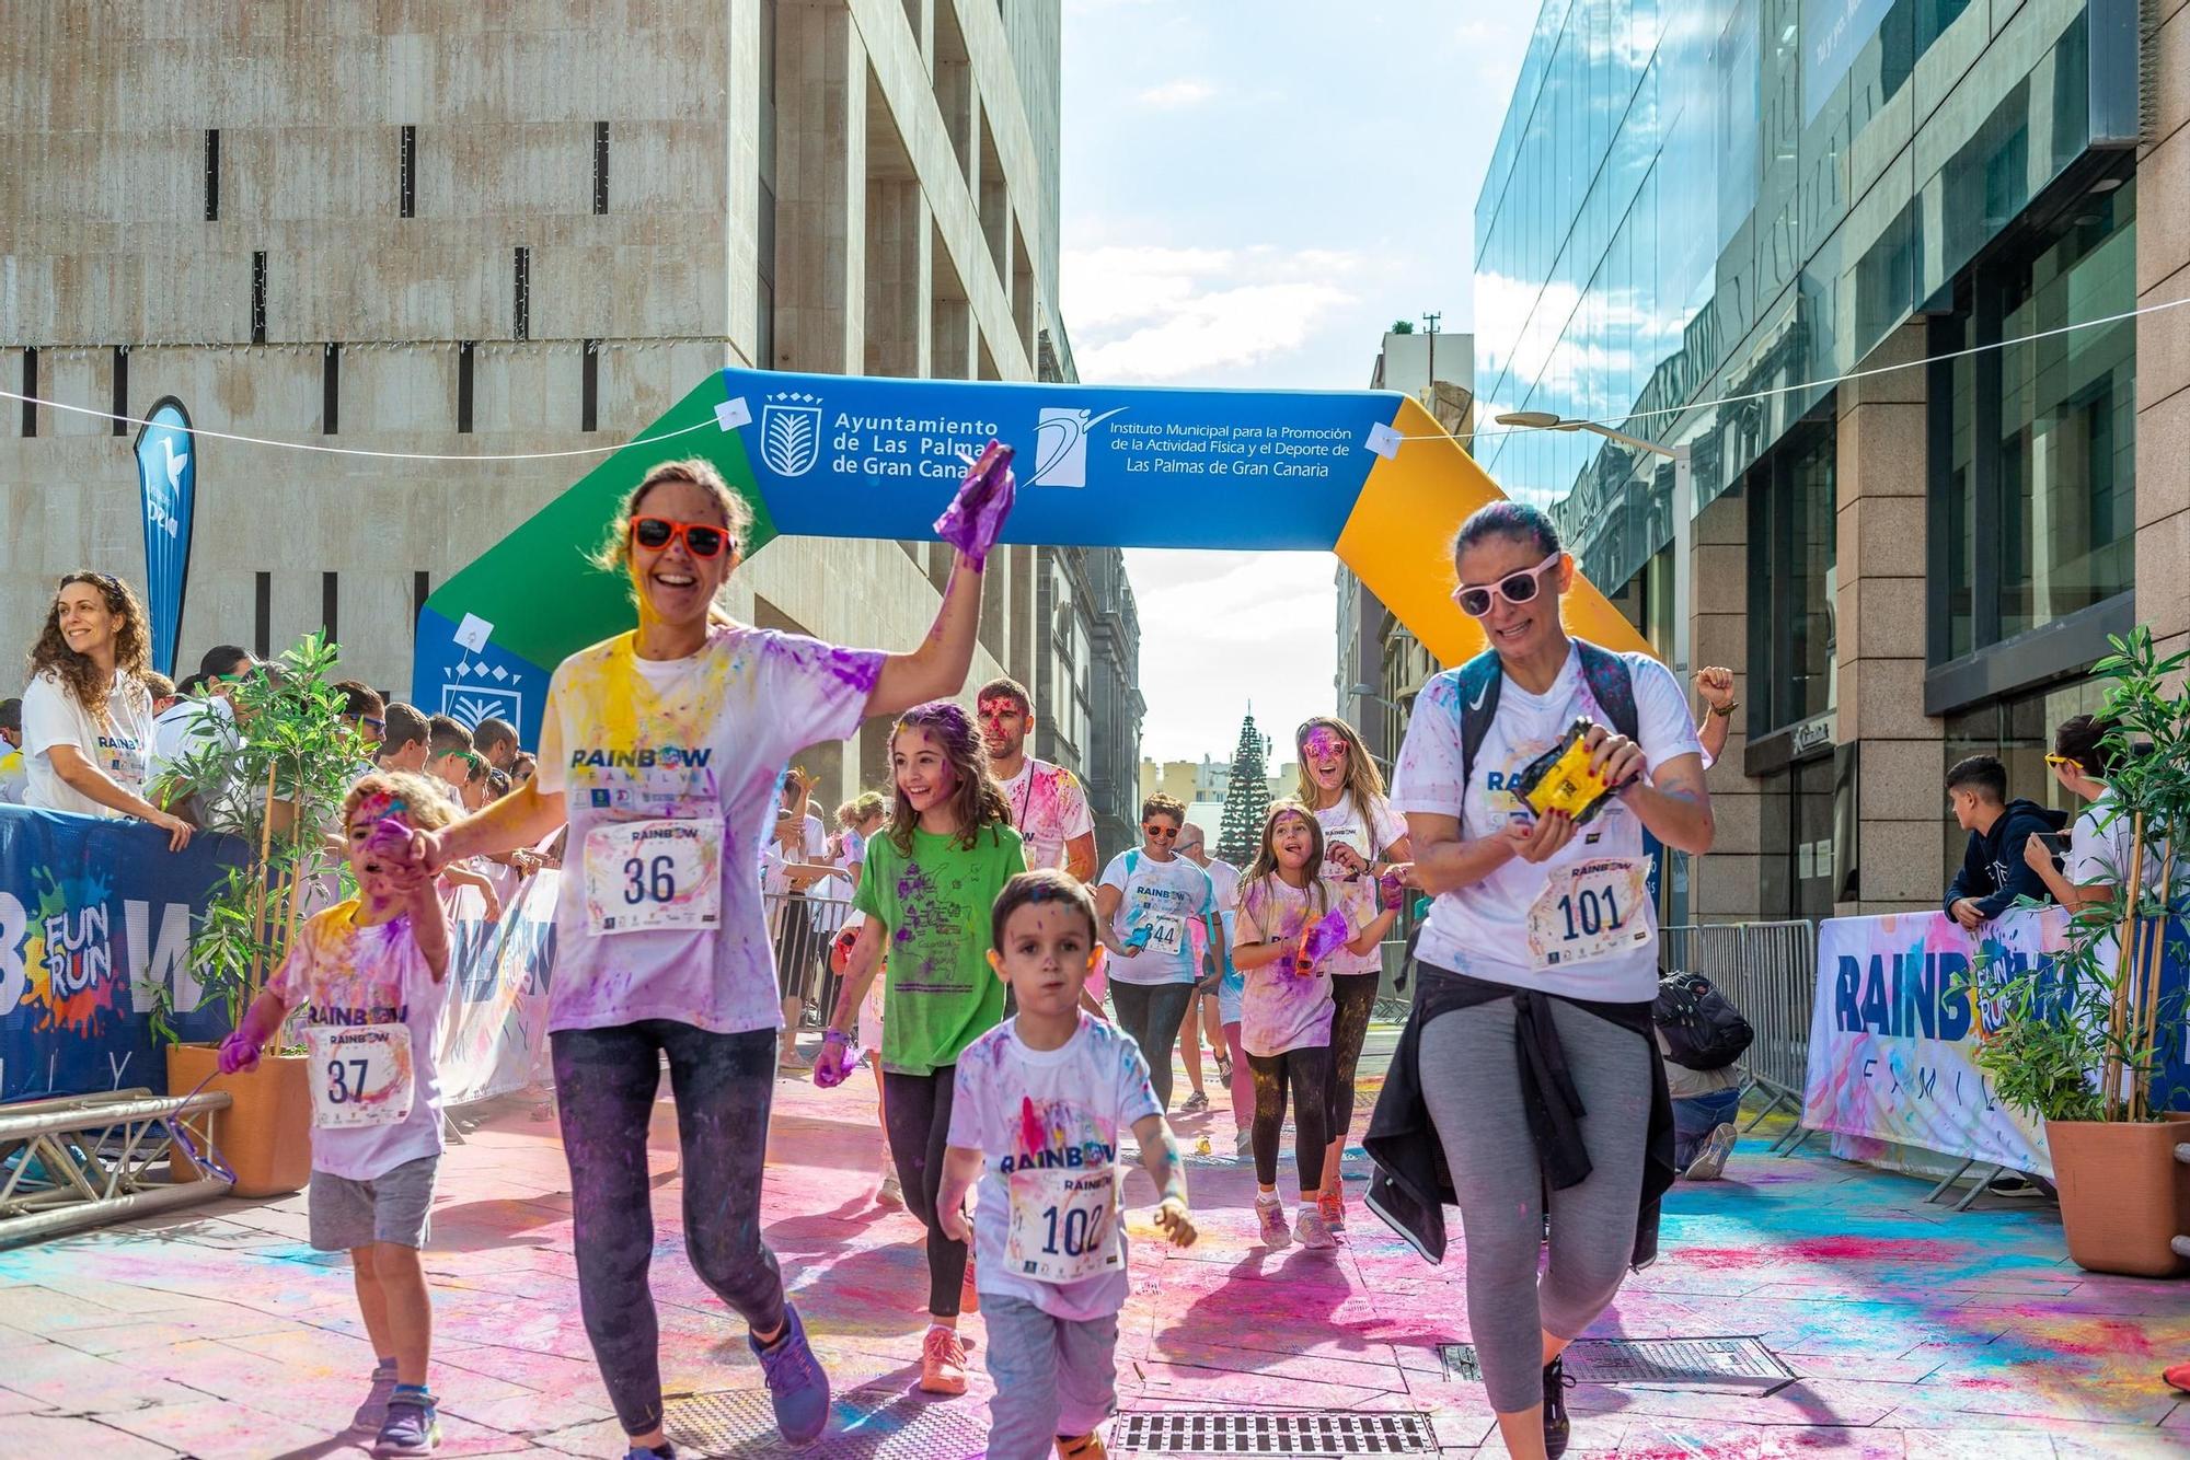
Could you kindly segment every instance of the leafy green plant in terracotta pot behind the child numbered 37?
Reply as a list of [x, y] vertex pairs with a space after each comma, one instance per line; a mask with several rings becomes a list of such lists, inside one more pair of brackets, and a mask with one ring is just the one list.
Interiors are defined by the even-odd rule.
[[[331, 683], [335, 657], [324, 635], [311, 635], [272, 670], [234, 683], [232, 718], [208, 705], [204, 714], [215, 716], [215, 729], [197, 735], [155, 788], [164, 801], [188, 797], [201, 827], [232, 834], [250, 849], [212, 889], [191, 937], [201, 998], [221, 1000], [230, 1027], [280, 967], [302, 919], [342, 895], [346, 867], [326, 827], [337, 821], [368, 751], [342, 716], [344, 698]], [[175, 1038], [166, 985], [149, 994], [153, 1040], [166, 1044], [169, 1090], [180, 1094], [204, 1081], [232, 1099], [219, 1116], [219, 1147], [237, 1173], [237, 1195], [302, 1189], [311, 1180], [302, 1044], [280, 1042], [258, 1068], [219, 1075], [212, 1044]], [[175, 1164], [175, 1180], [195, 1178], [184, 1154]]]

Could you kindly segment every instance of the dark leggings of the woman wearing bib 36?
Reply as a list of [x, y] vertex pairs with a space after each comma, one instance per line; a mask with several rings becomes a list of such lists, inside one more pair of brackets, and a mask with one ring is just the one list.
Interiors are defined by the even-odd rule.
[[569, 1160], [578, 1311], [626, 1434], [661, 1423], [661, 1357], [646, 1270], [655, 1254], [646, 1127], [670, 1057], [685, 1254], [760, 1333], [784, 1324], [784, 1281], [760, 1241], [760, 1164], [775, 1094], [775, 1031], [707, 1033], [675, 1020], [561, 1029], [554, 1051]]

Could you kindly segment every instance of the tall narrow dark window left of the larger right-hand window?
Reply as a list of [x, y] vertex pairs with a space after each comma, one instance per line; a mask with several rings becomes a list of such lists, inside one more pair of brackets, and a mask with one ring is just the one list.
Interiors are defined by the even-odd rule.
[[1833, 425], [1809, 422], [1748, 473], [1750, 735], [1835, 705]]

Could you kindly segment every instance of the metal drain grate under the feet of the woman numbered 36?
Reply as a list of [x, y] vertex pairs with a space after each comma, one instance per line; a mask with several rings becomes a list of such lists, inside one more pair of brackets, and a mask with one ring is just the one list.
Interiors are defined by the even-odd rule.
[[[775, 1434], [766, 1390], [681, 1394], [661, 1405], [661, 1427], [683, 1456], [797, 1453]], [[937, 1405], [907, 1388], [848, 1390], [832, 1405], [819, 1451], [830, 1460], [966, 1460], [988, 1449], [988, 1407]]]

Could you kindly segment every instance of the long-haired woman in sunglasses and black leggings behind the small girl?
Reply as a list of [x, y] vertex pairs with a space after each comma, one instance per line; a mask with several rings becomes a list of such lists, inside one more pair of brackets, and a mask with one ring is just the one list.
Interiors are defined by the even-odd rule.
[[[1323, 827], [1325, 860], [1316, 876], [1367, 882], [1367, 889], [1356, 891], [1369, 906], [1380, 906], [1378, 880], [1393, 867], [1404, 867], [1413, 845], [1406, 838], [1406, 821], [1384, 799], [1384, 777], [1369, 760], [1369, 749], [1351, 725], [1329, 716], [1301, 725], [1292, 733], [1292, 749], [1301, 768], [1294, 795]], [[1340, 1195], [1345, 1173], [1338, 1169], [1338, 1158], [1353, 1127], [1353, 1070], [1360, 1066], [1362, 1040], [1369, 1038], [1378, 983], [1384, 981], [1384, 950], [1340, 948], [1325, 967], [1332, 974], [1332, 1079], [1325, 1086], [1329, 1110], [1323, 1129], [1329, 1132], [1332, 1147], [1323, 1158], [1323, 1193], [1316, 1197], [1316, 1210], [1323, 1226], [1342, 1232], [1347, 1204]]]

